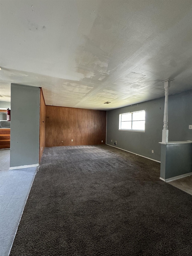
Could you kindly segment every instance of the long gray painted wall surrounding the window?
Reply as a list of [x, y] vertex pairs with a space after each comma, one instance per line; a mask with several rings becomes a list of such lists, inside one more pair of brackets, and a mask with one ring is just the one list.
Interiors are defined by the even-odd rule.
[[[119, 131], [119, 114], [146, 111], [145, 132]], [[164, 98], [107, 111], [106, 143], [161, 161]], [[169, 96], [169, 141], [192, 140], [192, 90]], [[111, 142], [113, 140], [113, 142]], [[114, 142], [117, 141], [117, 145]], [[154, 153], [152, 153], [154, 150]]]

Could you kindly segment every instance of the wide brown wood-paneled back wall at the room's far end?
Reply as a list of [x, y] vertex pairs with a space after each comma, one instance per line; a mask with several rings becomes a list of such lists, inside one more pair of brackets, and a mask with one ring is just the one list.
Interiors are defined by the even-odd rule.
[[101, 110], [46, 106], [45, 146], [105, 144], [106, 114]]

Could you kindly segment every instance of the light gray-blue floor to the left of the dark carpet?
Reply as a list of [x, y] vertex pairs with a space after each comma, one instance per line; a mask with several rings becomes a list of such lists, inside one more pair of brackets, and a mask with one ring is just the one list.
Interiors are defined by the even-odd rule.
[[7, 256], [37, 167], [8, 170], [10, 150], [0, 150], [0, 256]]

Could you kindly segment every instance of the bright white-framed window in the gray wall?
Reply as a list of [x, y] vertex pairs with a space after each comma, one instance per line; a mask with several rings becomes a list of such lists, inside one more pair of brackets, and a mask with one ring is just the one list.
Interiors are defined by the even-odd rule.
[[119, 114], [119, 130], [145, 131], [145, 110]]

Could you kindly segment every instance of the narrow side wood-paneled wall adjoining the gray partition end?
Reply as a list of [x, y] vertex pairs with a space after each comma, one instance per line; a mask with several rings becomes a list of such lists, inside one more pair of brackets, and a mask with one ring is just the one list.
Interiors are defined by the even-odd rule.
[[45, 147], [45, 100], [42, 88], [40, 89], [40, 125], [39, 125], [39, 163]]

